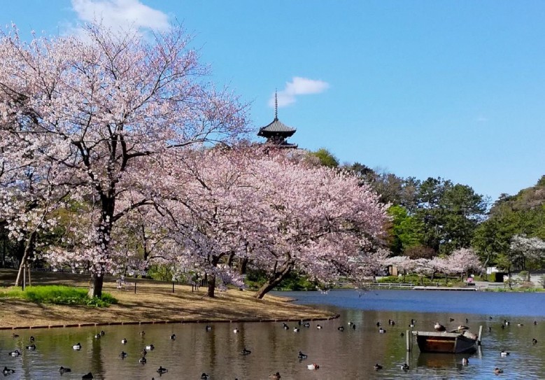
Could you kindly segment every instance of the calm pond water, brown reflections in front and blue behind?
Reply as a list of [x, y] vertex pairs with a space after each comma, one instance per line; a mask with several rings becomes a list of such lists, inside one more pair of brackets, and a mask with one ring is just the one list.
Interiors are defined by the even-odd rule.
[[[331, 321], [311, 321], [310, 327], [292, 328], [281, 323], [213, 323], [206, 331], [204, 324], [101, 326], [99, 328], [67, 328], [52, 330], [0, 331], [0, 368], [15, 370], [8, 379], [81, 379], [92, 372], [95, 379], [159, 379], [161, 365], [169, 372], [161, 379], [200, 379], [210, 374], [211, 380], [268, 379], [280, 372], [282, 379], [545, 379], [545, 294], [484, 293], [416, 290], [378, 290], [358, 293], [353, 290], [280, 293], [302, 304], [319, 305], [339, 313]], [[492, 319], [490, 319], [492, 316]], [[416, 329], [430, 330], [434, 321], [455, 327], [469, 325], [474, 332], [483, 325], [482, 349], [472, 355], [420, 354], [418, 347], [406, 352], [401, 332], [415, 318]], [[449, 318], [455, 321], [449, 322]], [[467, 323], [466, 323], [467, 318]], [[396, 322], [388, 325], [388, 319]], [[502, 321], [511, 322], [502, 329]], [[355, 323], [355, 330], [348, 322]], [[534, 325], [537, 321], [537, 325]], [[387, 330], [379, 334], [381, 322]], [[518, 326], [521, 323], [523, 326]], [[316, 325], [323, 325], [318, 330]], [[344, 326], [343, 332], [337, 328]], [[488, 332], [488, 327], [492, 328]], [[240, 331], [234, 333], [234, 328]], [[94, 339], [100, 330], [106, 334]], [[145, 335], [139, 332], [144, 330]], [[176, 334], [176, 340], [169, 339]], [[28, 351], [29, 337], [36, 337], [36, 351]], [[128, 343], [121, 344], [127, 338]], [[538, 340], [532, 344], [532, 338]], [[80, 342], [80, 351], [72, 349]], [[140, 351], [153, 344], [146, 365], [139, 363]], [[247, 348], [252, 353], [243, 356]], [[8, 356], [19, 349], [21, 356]], [[506, 349], [511, 354], [500, 356]], [[125, 359], [119, 353], [125, 351]], [[309, 356], [301, 362], [297, 353]], [[469, 365], [462, 366], [462, 358]], [[308, 370], [317, 363], [320, 369]], [[383, 370], [375, 372], [375, 363]], [[400, 366], [408, 363], [409, 372]], [[60, 375], [59, 366], [72, 372]], [[501, 367], [504, 374], [495, 375]]]

